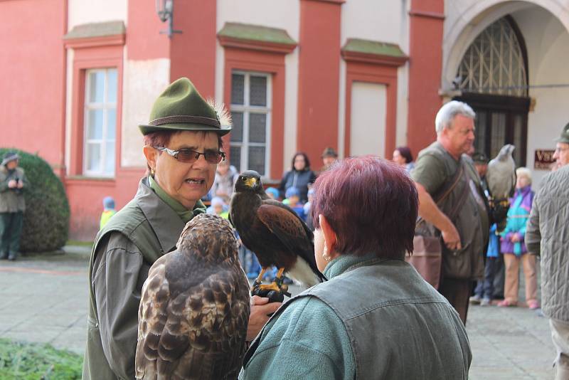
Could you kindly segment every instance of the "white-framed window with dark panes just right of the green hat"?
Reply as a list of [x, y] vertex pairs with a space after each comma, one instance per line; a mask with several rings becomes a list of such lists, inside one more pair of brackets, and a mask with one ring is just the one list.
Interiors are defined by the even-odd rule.
[[238, 171], [269, 174], [270, 75], [233, 72], [231, 75], [230, 160]]

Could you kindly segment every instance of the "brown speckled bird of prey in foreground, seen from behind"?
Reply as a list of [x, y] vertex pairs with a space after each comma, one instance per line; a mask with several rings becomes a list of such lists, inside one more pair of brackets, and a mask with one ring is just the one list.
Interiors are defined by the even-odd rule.
[[150, 268], [139, 307], [137, 379], [236, 379], [249, 283], [230, 223], [201, 214]]

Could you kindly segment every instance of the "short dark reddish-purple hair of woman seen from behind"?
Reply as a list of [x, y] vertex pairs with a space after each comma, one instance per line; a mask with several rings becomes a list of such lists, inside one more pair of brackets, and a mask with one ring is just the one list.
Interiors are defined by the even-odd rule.
[[326, 217], [340, 254], [401, 259], [413, 251], [418, 194], [415, 183], [393, 162], [354, 157], [336, 162], [314, 182], [312, 220]]

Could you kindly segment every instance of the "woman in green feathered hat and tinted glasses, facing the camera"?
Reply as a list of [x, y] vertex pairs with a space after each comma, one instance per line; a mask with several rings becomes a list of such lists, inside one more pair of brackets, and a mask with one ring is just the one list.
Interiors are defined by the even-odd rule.
[[[134, 378], [142, 285], [152, 263], [176, 248], [186, 223], [206, 212], [200, 199], [225, 158], [221, 137], [231, 130], [224, 115], [180, 78], [154, 102], [150, 122], [139, 125], [149, 175], [95, 238], [83, 379]], [[255, 302], [248, 340], [279, 306]]]

